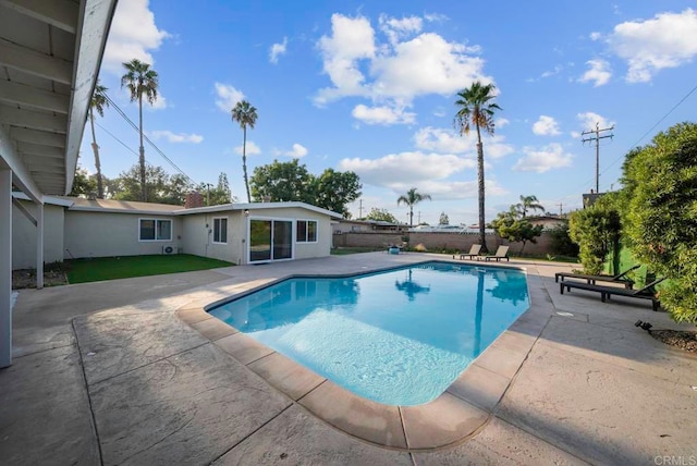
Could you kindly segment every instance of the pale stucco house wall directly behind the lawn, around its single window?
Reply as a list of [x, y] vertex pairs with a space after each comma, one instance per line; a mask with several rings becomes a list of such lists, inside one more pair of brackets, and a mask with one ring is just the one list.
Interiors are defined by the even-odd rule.
[[[171, 241], [139, 241], [139, 220], [172, 220]], [[65, 259], [162, 254], [180, 247], [182, 221], [174, 216], [131, 212], [65, 211]]]

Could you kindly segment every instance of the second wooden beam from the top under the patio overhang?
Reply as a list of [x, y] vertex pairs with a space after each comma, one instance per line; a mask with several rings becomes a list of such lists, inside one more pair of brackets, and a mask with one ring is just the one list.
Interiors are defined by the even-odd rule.
[[73, 64], [71, 62], [37, 52], [4, 39], [0, 39], [0, 65], [58, 83], [72, 84]]

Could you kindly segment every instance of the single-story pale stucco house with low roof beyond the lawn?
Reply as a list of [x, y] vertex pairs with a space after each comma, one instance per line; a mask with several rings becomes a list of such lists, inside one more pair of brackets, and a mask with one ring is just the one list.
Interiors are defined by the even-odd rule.
[[[12, 268], [36, 267], [33, 205], [13, 193]], [[23, 214], [28, 212], [29, 214]], [[164, 204], [46, 197], [44, 261], [193, 254], [237, 265], [329, 256], [341, 214], [305, 203], [184, 208]]]

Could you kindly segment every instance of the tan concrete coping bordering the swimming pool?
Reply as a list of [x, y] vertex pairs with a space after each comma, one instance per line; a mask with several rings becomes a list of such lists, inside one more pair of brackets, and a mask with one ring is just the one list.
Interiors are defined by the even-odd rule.
[[[425, 258], [412, 265], [429, 261], [484, 266], [476, 260], [441, 258]], [[353, 277], [403, 267], [405, 265], [338, 274], [291, 273], [265, 283], [255, 281], [250, 287], [240, 290], [224, 299], [211, 302], [209, 297], [189, 303], [179, 308], [175, 314], [180, 320], [265, 379], [271, 387], [334, 428], [366, 442], [393, 450], [440, 450], [474, 437], [489, 422], [533, 345], [554, 314], [551, 298], [537, 271], [509, 263], [486, 265], [490, 268], [524, 271], [530, 306], [440, 396], [418, 406], [384, 405], [353, 394], [207, 311], [231, 298], [240, 298], [293, 278]]]

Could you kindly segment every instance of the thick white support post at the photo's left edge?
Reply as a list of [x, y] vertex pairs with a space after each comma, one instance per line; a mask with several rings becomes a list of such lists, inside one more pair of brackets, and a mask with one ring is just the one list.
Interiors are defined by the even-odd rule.
[[12, 171], [0, 170], [0, 368], [12, 364]]

